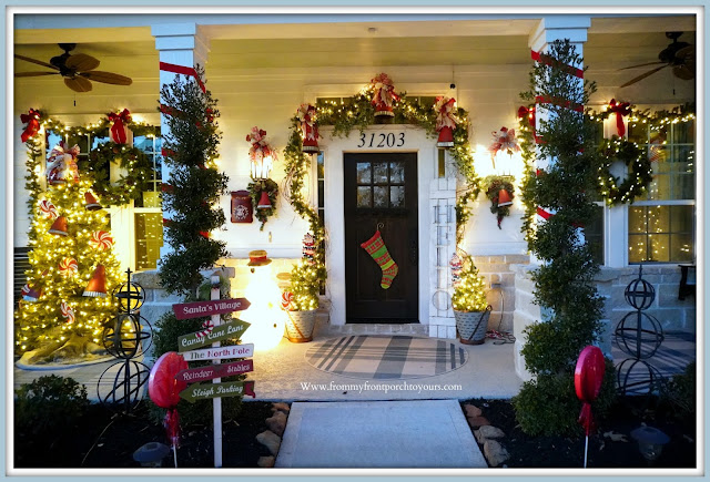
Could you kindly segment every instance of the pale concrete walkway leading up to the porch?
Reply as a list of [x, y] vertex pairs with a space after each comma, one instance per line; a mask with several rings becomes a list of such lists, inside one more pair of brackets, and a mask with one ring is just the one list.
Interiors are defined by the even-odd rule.
[[295, 402], [276, 468], [487, 468], [456, 400]]

